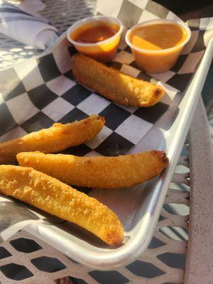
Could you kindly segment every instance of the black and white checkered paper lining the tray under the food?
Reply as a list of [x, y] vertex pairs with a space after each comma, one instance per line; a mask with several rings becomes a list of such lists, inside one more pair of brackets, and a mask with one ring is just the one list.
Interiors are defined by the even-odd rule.
[[[138, 22], [155, 18], [177, 19], [174, 13], [150, 0], [99, 0], [97, 14], [116, 16], [126, 29]], [[145, 138], [162, 116], [170, 114], [172, 104], [173, 110], [178, 109], [178, 103], [174, 103], [175, 97], [181, 99], [202, 58], [205, 50], [204, 35], [213, 28], [213, 18], [191, 20], [188, 24], [192, 29], [192, 38], [172, 70], [163, 74], [147, 74], [138, 70], [124, 35], [116, 58], [109, 64], [133, 77], [163, 85], [165, 97], [154, 107], [136, 108], [114, 104], [78, 84], [70, 65], [75, 48], [66, 36], [45, 55], [1, 71], [0, 141], [48, 128], [54, 122], [65, 124], [91, 114], [100, 114], [106, 119], [104, 129], [88, 143], [66, 149], [62, 153], [128, 153]], [[168, 121], [168, 125], [172, 124], [172, 120]], [[169, 131], [169, 127], [166, 131]]]

